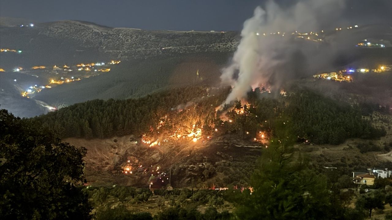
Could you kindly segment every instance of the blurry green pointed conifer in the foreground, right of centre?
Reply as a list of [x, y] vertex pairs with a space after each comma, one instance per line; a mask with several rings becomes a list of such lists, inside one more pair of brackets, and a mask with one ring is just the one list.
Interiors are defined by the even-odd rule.
[[[336, 219], [343, 203], [332, 200], [326, 177], [294, 154], [286, 134], [272, 139], [252, 176], [252, 193], [243, 193], [236, 219]], [[235, 201], [233, 201], [235, 202]]]

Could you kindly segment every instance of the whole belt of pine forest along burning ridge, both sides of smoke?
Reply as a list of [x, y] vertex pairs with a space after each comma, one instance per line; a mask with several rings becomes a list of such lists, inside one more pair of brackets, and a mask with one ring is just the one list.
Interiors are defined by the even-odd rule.
[[[295, 90], [278, 98], [260, 98], [260, 91], [255, 90], [248, 94], [248, 105], [237, 101], [215, 112], [228, 92], [205, 87], [174, 88], [140, 99], [87, 101], [27, 120], [54, 130], [60, 137], [84, 138], [131, 133], [158, 137], [165, 132], [173, 134], [178, 128], [192, 130], [193, 125], [207, 136], [218, 128], [220, 133], [253, 140], [260, 131], [274, 135], [284, 124], [297, 141], [316, 144], [340, 144], [347, 138], [373, 139], [386, 134], [363, 119], [359, 108], [309, 90]], [[222, 115], [226, 121], [221, 120]], [[165, 124], [158, 132], [161, 120]]]

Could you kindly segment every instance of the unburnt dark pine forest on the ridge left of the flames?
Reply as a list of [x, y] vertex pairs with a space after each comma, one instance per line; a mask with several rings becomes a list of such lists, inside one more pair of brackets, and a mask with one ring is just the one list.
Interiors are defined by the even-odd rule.
[[208, 91], [205, 87], [184, 87], [140, 99], [92, 100], [27, 120], [42, 124], [62, 138], [105, 138], [143, 133], [155, 127], [160, 118], [177, 112], [178, 105], [207, 97]]

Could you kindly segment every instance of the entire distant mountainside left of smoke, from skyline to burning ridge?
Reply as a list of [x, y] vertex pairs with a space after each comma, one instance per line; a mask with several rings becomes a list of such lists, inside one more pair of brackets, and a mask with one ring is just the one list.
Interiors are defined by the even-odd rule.
[[[0, 54], [1, 68], [5, 70], [122, 61], [107, 74], [60, 85], [34, 97], [55, 106], [91, 99], [140, 97], [171, 85], [215, 83], [240, 39], [238, 32], [145, 31], [70, 20], [20, 27], [22, 20], [2, 21], [0, 47], [22, 50], [19, 54]], [[15, 103], [7, 103], [2, 101], [3, 107], [15, 109]]]

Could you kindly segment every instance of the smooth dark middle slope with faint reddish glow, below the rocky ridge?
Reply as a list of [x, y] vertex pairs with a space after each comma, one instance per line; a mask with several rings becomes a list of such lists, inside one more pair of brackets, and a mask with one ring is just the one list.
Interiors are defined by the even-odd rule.
[[72, 105], [92, 99], [143, 97], [172, 87], [217, 86], [229, 53], [205, 52], [178, 58], [124, 61], [108, 74], [42, 91], [34, 98], [53, 106]]

